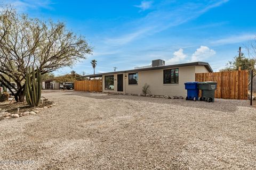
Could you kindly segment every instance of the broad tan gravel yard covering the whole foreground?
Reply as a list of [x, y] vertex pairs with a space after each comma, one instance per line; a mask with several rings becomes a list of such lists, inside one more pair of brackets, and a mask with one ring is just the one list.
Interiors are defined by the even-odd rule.
[[57, 105], [0, 122], [0, 169], [256, 168], [256, 108], [249, 101], [43, 96]]

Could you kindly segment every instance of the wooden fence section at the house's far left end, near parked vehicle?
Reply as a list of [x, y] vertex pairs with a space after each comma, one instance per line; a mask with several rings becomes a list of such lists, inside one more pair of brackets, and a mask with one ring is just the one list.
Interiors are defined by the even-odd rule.
[[75, 82], [76, 91], [102, 91], [102, 80], [82, 80]]

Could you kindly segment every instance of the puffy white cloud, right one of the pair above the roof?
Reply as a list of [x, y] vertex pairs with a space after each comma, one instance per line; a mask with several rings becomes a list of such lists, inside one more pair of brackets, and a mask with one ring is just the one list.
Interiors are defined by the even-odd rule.
[[209, 58], [215, 54], [216, 52], [213, 49], [206, 46], [201, 46], [192, 54], [191, 62], [205, 61], [206, 58]]

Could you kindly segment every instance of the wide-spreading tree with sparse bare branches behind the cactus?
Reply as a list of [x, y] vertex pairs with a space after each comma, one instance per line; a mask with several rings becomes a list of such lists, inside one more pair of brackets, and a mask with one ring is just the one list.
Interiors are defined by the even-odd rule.
[[68, 31], [62, 22], [29, 18], [10, 7], [0, 11], [0, 82], [9, 88], [17, 102], [25, 99], [29, 66], [38, 67], [44, 75], [72, 66], [91, 52], [86, 40]]

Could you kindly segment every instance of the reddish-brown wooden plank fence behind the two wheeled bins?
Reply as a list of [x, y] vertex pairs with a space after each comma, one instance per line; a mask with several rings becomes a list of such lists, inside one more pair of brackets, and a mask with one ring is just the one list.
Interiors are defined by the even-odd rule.
[[196, 81], [218, 82], [215, 98], [248, 99], [248, 71], [246, 70], [196, 73]]

